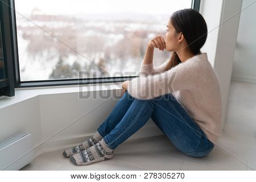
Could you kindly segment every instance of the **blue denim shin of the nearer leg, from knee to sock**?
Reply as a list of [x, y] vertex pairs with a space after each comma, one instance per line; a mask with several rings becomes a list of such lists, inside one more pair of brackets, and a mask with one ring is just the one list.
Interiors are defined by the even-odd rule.
[[141, 129], [154, 111], [154, 102], [135, 98], [122, 120], [104, 137], [106, 144], [113, 150]]

